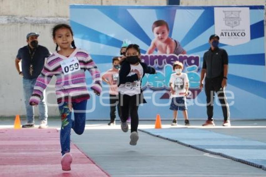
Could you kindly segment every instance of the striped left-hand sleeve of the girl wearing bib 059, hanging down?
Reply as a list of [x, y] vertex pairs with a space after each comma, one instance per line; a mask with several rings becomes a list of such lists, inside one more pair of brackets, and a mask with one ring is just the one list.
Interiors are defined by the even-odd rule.
[[47, 85], [50, 83], [53, 75], [54, 75], [54, 72], [49, 67], [48, 62], [46, 62], [33, 88], [33, 93], [29, 99], [30, 105], [38, 105], [40, 103], [41, 97], [43, 96], [43, 91], [46, 89]]

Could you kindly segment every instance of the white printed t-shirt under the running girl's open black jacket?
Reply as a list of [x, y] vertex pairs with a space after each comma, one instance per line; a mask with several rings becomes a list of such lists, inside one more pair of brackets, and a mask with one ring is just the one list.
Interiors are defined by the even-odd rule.
[[[132, 65], [130, 64], [130, 73], [127, 76], [132, 76], [137, 73], [137, 71], [141, 74], [141, 78], [143, 77], [143, 68], [141, 64]], [[141, 78], [134, 82], [126, 82], [125, 84], [120, 84], [118, 87], [118, 91], [120, 94], [126, 94], [129, 96], [133, 96], [141, 93]]]

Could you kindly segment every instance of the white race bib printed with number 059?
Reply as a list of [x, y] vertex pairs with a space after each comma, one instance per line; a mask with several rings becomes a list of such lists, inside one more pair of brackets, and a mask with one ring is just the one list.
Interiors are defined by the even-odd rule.
[[64, 75], [74, 73], [80, 70], [79, 60], [77, 57], [61, 61], [61, 67]]

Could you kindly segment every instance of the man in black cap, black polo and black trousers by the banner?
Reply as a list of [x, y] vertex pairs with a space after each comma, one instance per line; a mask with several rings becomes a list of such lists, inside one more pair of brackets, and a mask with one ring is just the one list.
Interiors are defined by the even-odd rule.
[[201, 71], [200, 88], [203, 88], [203, 79], [205, 77], [205, 94], [207, 97], [207, 115], [208, 120], [202, 126], [215, 126], [213, 116], [213, 100], [216, 92], [223, 109], [223, 126], [230, 126], [229, 106], [225, 96], [225, 87], [227, 86], [228, 73], [228, 54], [218, 47], [219, 36], [213, 34], [209, 38], [210, 49], [203, 55], [203, 65]]

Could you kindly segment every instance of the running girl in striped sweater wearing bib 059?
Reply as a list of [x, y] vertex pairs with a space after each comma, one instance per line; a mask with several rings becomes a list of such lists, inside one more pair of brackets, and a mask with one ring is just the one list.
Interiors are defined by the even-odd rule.
[[[72, 162], [70, 154], [71, 128], [76, 134], [84, 132], [86, 105], [90, 98], [85, 82], [85, 71], [89, 70], [92, 75], [93, 84], [90, 88], [97, 95], [100, 95], [102, 91], [101, 78], [100, 71], [90, 54], [75, 47], [73, 31], [69, 25], [59, 24], [54, 26], [53, 39], [56, 44], [56, 52], [44, 64], [43, 70], [35, 83], [29, 104], [39, 104], [43, 90], [47, 87], [51, 78], [56, 76], [56, 96], [62, 119], [60, 144], [63, 157], [61, 165], [63, 170], [70, 170]], [[60, 50], [58, 50], [58, 47], [60, 47]], [[74, 120], [71, 119], [72, 108]]]

